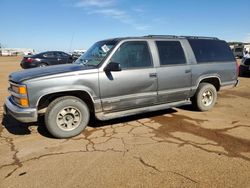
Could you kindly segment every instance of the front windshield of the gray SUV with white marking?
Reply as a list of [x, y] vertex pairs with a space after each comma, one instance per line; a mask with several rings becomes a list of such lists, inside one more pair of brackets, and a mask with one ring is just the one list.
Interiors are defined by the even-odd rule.
[[74, 63], [97, 67], [108, 55], [117, 42], [113, 40], [100, 41], [91, 46]]

